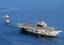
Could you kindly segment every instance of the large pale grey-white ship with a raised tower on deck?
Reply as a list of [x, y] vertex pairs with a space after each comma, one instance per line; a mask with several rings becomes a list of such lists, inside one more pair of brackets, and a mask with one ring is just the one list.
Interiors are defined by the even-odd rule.
[[56, 30], [53, 27], [48, 27], [45, 21], [39, 21], [35, 24], [27, 24], [27, 23], [18, 23], [17, 26], [22, 30], [23, 33], [27, 34], [35, 34], [41, 36], [50, 36], [56, 37], [60, 34], [59, 30]]

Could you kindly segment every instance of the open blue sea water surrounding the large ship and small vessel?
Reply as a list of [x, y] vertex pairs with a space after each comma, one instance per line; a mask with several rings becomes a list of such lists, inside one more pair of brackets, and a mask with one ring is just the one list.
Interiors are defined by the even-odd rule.
[[[3, 16], [11, 16], [11, 25]], [[18, 22], [36, 23], [40, 18], [63, 32], [57, 38], [20, 34]], [[0, 45], [64, 45], [64, 0], [1, 0]]]

